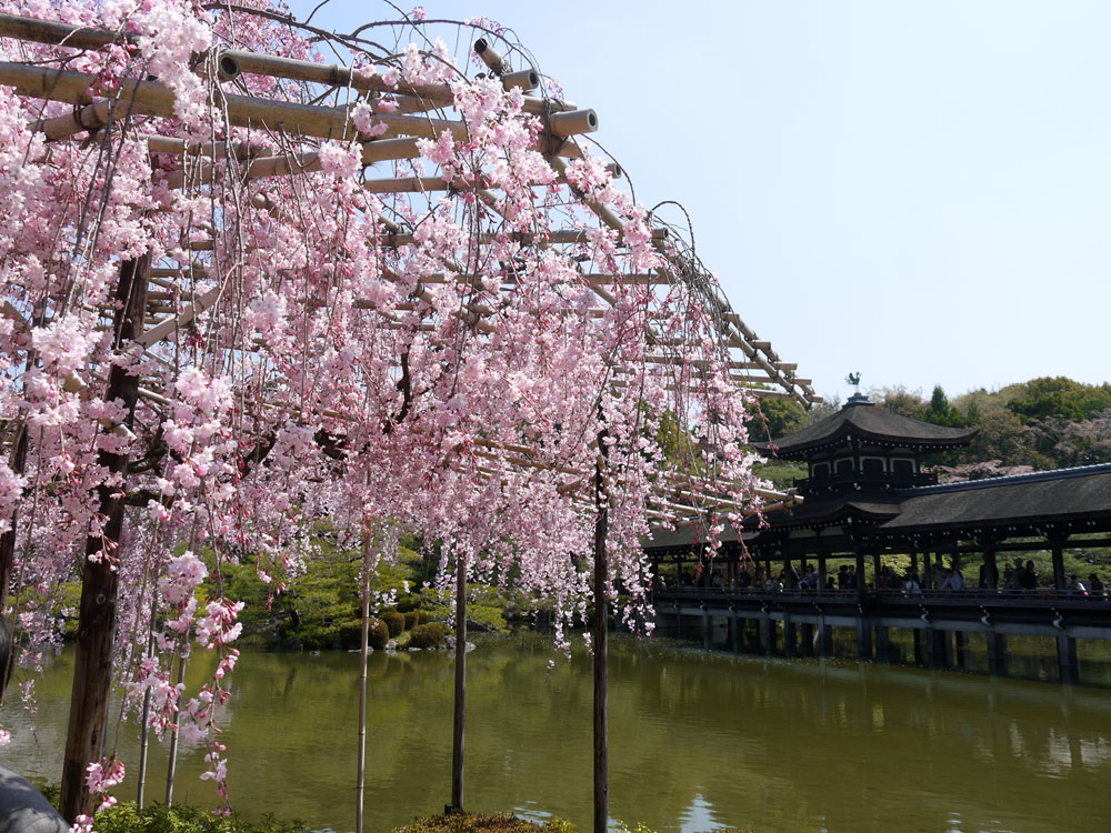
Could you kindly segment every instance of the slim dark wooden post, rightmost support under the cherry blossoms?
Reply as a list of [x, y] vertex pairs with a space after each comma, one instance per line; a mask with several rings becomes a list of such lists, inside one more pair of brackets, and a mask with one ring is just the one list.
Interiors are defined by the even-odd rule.
[[605, 456], [605, 431], [598, 435], [601, 455], [594, 464], [594, 833], [607, 833], [610, 816], [609, 724], [607, 703], [607, 660], [609, 633], [607, 619], [609, 604], [605, 599], [605, 576], [609, 564], [605, 558], [605, 535], [609, 530], [609, 495], [605, 493], [602, 463]]

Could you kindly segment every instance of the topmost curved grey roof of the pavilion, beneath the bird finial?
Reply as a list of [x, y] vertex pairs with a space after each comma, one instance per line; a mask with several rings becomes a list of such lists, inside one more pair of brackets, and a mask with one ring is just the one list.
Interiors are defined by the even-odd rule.
[[833, 448], [859, 438], [873, 443], [922, 450], [968, 445], [979, 433], [975, 428], [945, 428], [902, 416], [870, 402], [850, 402], [840, 411], [793, 434], [758, 443], [757, 450], [779, 458], [801, 458], [808, 452]]

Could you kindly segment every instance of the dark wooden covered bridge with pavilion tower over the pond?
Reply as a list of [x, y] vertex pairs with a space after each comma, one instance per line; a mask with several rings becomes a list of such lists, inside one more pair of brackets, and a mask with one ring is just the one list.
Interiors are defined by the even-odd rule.
[[[667, 615], [668, 600], [678, 600], [672, 606], [681, 625], [684, 600], [699, 599], [685, 615], [694, 611], [705, 616], [728, 599], [733, 629], [745, 619], [784, 621], [785, 653], [789, 640], [807, 652], [807, 636], [798, 645], [794, 624], [821, 628], [815, 642], [822, 648], [830, 623], [851, 624], [862, 659], [872, 659], [873, 632], [882, 649], [889, 626], [912, 628], [915, 658], [930, 664], [945, 655], [945, 636], [939, 634], [955, 633], [959, 653], [969, 632], [982, 631], [989, 636], [993, 670], [1005, 666], [1005, 634], [1052, 635], [1062, 679], [1075, 679], [1075, 639], [1111, 639], [1111, 604], [1105, 596], [1078, 598], [1068, 590], [1063, 551], [1067, 545], [1111, 545], [1111, 464], [950, 484], [923, 472], [923, 458], [968, 445], [975, 434], [975, 429], [900, 416], [858, 395], [813, 425], [758, 445], [768, 456], [805, 462], [808, 476], [795, 481], [803, 502], [768, 512], [764, 524], [748, 519], [740, 539], [727, 526], [712, 562], [693, 526], [655, 532], [644, 548], [657, 570], [677, 562], [674, 574], [690, 576], [690, 586], [660, 582], [658, 612]], [[1052, 553], [1051, 588], [1020, 594], [1000, 586], [1000, 555], [1039, 550]], [[884, 558], [897, 553], [909, 555], [911, 569], [920, 570], [921, 593], [908, 593], [901, 581], [897, 588], [874, 590]], [[938, 569], [960, 571], [962, 559], [970, 556], [982, 566], [965, 576], [964, 592], [934, 590], [941, 583]], [[827, 560], [833, 558], [855, 563], [854, 586], [827, 589]], [[748, 559], [755, 562], [758, 580], [784, 576], [784, 590], [769, 593], [758, 581], [741, 592], [741, 564], [753, 566]], [[808, 565], [818, 573], [819, 580], [811, 582], [818, 586], [800, 592], [798, 576]], [[793, 615], [788, 610], [792, 598], [801, 605]], [[758, 612], [747, 610], [753, 605]]]

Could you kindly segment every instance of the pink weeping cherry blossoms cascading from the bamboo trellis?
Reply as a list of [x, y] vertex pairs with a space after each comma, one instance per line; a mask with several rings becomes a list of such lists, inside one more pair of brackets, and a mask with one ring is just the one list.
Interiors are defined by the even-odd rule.
[[[669, 495], [755, 505], [750, 400], [729, 379], [712, 279], [691, 278], [603, 160], [553, 155], [521, 90], [469, 76], [466, 59], [416, 30], [392, 56], [371, 40], [331, 42], [353, 77], [381, 81], [373, 94], [264, 73], [221, 81], [221, 48], [324, 59], [319, 32], [276, 19], [266, 0], [0, 0], [0, 11], [113, 33], [88, 50], [0, 40], [0, 60], [82, 72], [91, 101], [150, 78], [173, 102], [47, 141], [36, 122], [72, 104], [0, 97], [8, 612], [22, 662], [40, 664], [58, 644], [63, 583], [82, 559], [110, 564], [123, 707], [139, 715], [149, 693], [140, 719], [206, 744], [204, 777], [221, 795], [214, 730], [242, 610], [223, 592], [228, 561], [252, 562], [277, 594], [319, 554], [324, 522], [342, 546], [370, 545], [372, 568], [414, 531], [442, 542], [444, 568], [494, 584], [512, 575], [553, 599], [565, 644], [590, 602], [595, 490], [609, 514], [608, 594], [620, 591], [627, 621], [644, 630], [641, 542], [668, 523]], [[488, 21], [460, 26], [498, 36]], [[364, 148], [430, 86], [451, 101], [436, 117], [464, 130], [366, 165]], [[323, 101], [350, 132], [238, 126], [228, 99], [243, 94]], [[272, 158], [301, 170], [251, 173]], [[390, 178], [443, 184], [368, 188]], [[148, 259], [151, 318], [124, 322], [118, 287]], [[668, 279], [622, 280], [655, 273]], [[119, 338], [123, 324], [163, 331], [137, 343]], [[119, 371], [138, 382], [134, 408], [108, 395]], [[106, 454], [126, 455], [127, 473]], [[124, 532], [89, 555], [112, 495], [127, 503]], [[712, 542], [725, 512], [711, 509], [701, 522]], [[172, 682], [190, 646], [218, 656], [192, 694]], [[116, 783], [117, 762], [93, 765], [90, 791]]]

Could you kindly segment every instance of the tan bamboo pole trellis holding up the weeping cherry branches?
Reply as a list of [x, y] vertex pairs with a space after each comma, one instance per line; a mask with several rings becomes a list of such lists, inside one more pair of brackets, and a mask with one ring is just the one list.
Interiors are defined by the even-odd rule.
[[[0, 14], [0, 38], [47, 44], [56, 48], [59, 57], [71, 57], [82, 50], [98, 50], [118, 43], [121, 38], [126, 40], [127, 36]], [[504, 89], [523, 91], [523, 110], [540, 120], [538, 147], [543, 150], [554, 170], [557, 183], [573, 191], [568, 182], [567, 163], [568, 160], [582, 159], [587, 154], [589, 149], [585, 137], [598, 130], [598, 114], [543, 92], [540, 76], [532, 67], [513, 71], [509, 61], [487, 39], [479, 39], [473, 46], [487, 72], [500, 78]], [[244, 188], [248, 183], [304, 177], [322, 169], [321, 157], [314, 144], [339, 140], [359, 143], [361, 162], [366, 167], [362, 188], [368, 193], [406, 195], [417, 200], [433, 200], [444, 194], [467, 194], [490, 211], [499, 211], [499, 192], [493, 181], [487, 181], [482, 177], [400, 175], [403, 172], [397, 170], [397, 163], [421, 157], [418, 147], [420, 139], [436, 140], [444, 132], [458, 140], [464, 140], [469, 136], [466, 121], [451, 113], [454, 93], [448, 84], [397, 82], [378, 72], [366, 72], [351, 66], [321, 64], [237, 49], [218, 49], [209, 54], [198, 56], [196, 64], [196, 71], [210, 83], [213, 101], [218, 103], [227, 126], [249, 128], [256, 140], [196, 142], [188, 137], [160, 134], [150, 123], [158, 119], [173, 118], [176, 101], [173, 90], [156, 79], [123, 78], [110, 91], [93, 96], [89, 90], [97, 79], [89, 73], [44, 66], [41, 62], [0, 62], [0, 86], [38, 100], [43, 106], [47, 102], [60, 102], [71, 108], [68, 112], [39, 118], [31, 123], [33, 131], [44, 138], [48, 152], [51, 145], [83, 145], [100, 141], [106, 136], [113, 142], [136, 143], [157, 160], [161, 170], [167, 171], [162, 182], [169, 192], [203, 194], [218, 188]], [[237, 82], [252, 76], [289, 84], [290, 89], [300, 91], [300, 97], [298, 100], [292, 100], [293, 97], [290, 97], [291, 100], [276, 100], [249, 94], [248, 88], [237, 86]], [[389, 97], [389, 107], [383, 106], [383, 97]], [[363, 102], [371, 107], [376, 121], [382, 126], [379, 136], [362, 136], [354, 127], [352, 111]], [[614, 177], [622, 174], [617, 163], [611, 164], [609, 171]], [[594, 230], [603, 230], [615, 235], [618, 243], [622, 244], [627, 229], [619, 212], [612, 205], [584, 194], [575, 193], [575, 197], [579, 209], [585, 214], [583, 222], [569, 222], [567, 228], [556, 229], [540, 237], [512, 232], [509, 235], [512, 242], [522, 247], [564, 250], [573, 254], [589, 249]], [[264, 192], [256, 190], [238, 210], [282, 217], [289, 211], [289, 207], [276, 204]], [[383, 217], [382, 222], [387, 229], [380, 241], [383, 247], [401, 251], [413, 245], [418, 230], [402, 213]], [[118, 294], [118, 299], [123, 301], [126, 309], [120, 310], [117, 304], [88, 309], [100, 317], [104, 330], [114, 330], [118, 334], [122, 332], [120, 327], [124, 319], [137, 324], [134, 331], [122, 333], [124, 338], [121, 350], [133, 358], [141, 357], [156, 363], [164, 361], [160, 351], [166, 345], [181, 340], [201, 323], [208, 332], [216, 332], [229, 314], [221, 304], [224, 295], [224, 275], [221, 274], [219, 261], [222, 229], [218, 224], [199, 223], [193, 232], [181, 241], [180, 250], [144, 267], [140, 264], [134, 268], [128, 277], [134, 283], [128, 283], [126, 291], [121, 277], [122, 294]], [[481, 232], [477, 241], [482, 243], [492, 240], [492, 234]], [[594, 299], [587, 311], [590, 317], [604, 318], [625, 288], [637, 287], [653, 292], [681, 284], [699, 299], [702, 308], [712, 317], [720, 345], [728, 354], [725, 364], [729, 380], [733, 384], [759, 398], [789, 399], [805, 408], [821, 401], [811, 380], [798, 374], [798, 365], [782, 360], [771, 342], [761, 339], [734, 311], [729, 300], [718, 290], [692, 244], [678, 229], [653, 218], [651, 245], [662, 258], [663, 265], [660, 268], [635, 274], [608, 272], [598, 268], [584, 268], [581, 271], [578, 280], [590, 288]], [[249, 254], [250, 250], [246, 253]], [[590, 261], [590, 257], [584, 255], [579, 260]], [[431, 328], [436, 312], [429, 302], [429, 287], [448, 282], [478, 282], [481, 279], [482, 275], [470, 273], [463, 264], [444, 262], [441, 272], [421, 277], [404, 303], [393, 305], [392, 311], [382, 311], [382, 325], [411, 329], [411, 322], [402, 322], [393, 317], [394, 312], [406, 312], [423, 317], [422, 323], [417, 324], [418, 328]], [[512, 274], [504, 275], [500, 280], [498, 292], [509, 297], [516, 291], [518, 281]], [[372, 299], [356, 299], [354, 307], [376, 309]], [[497, 298], [486, 299], [470, 303], [453, 314], [474, 332], [489, 335], [497, 332], [499, 327], [498, 307]], [[10, 302], [4, 303], [2, 314], [12, 319], [17, 327], [30, 328], [27, 311]], [[698, 362], [679, 367], [671, 352], [671, 338], [653, 330], [651, 324], [647, 338], [658, 350], [645, 357], [644, 362], [659, 372], [675, 371], [675, 381], [669, 390], [697, 383], [701, 374], [709, 372], [708, 367], [700, 367]], [[615, 370], [610, 381], [615, 394], [620, 394], [630, 383], [634, 370]], [[679, 381], [687, 378], [679, 370], [689, 372], [693, 381]], [[111, 399], [113, 393], [122, 393], [124, 401], [131, 395], [132, 402], [143, 401], [153, 408], [170, 404], [169, 392], [161, 388], [157, 375], [131, 377], [130, 380], [121, 382], [114, 374], [112, 379], [82, 380], [74, 377], [70, 389], [77, 391], [83, 385], [97, 383], [108, 385], [109, 395], [106, 399]], [[113, 391], [112, 385], [117, 383], [130, 388]], [[266, 402], [257, 404], [268, 407]], [[332, 412], [327, 415], [343, 419], [341, 413]], [[124, 434], [128, 432], [126, 425], [111, 421], [106, 421], [104, 428]], [[599, 458], [598, 468], [593, 471], [573, 466], [559, 468], [542, 459], [536, 449], [528, 445], [506, 445], [481, 440], [476, 443], [471, 458], [477, 464], [478, 474], [492, 479], [502, 478], [507, 472], [551, 470], [556, 465], [557, 471], [567, 475], [561, 490], [571, 493], [584, 512], [594, 512], [599, 509], [599, 472], [604, 465], [604, 448], [597, 440], [593, 448]], [[126, 470], [126, 463], [123, 465]], [[800, 501], [793, 490], [761, 490], [760, 498], [764, 501], [764, 509], [788, 506]], [[697, 480], [661, 480], [653, 486], [649, 518], [661, 524], [672, 524], [704, 521], [708, 514], [750, 511], [749, 506], [738, 505], [724, 496], [720, 483], [703, 486]], [[600, 534], [604, 541], [604, 528]], [[601, 638], [604, 639], [604, 630]], [[363, 643], [366, 644], [366, 636]], [[110, 645], [104, 641], [98, 650], [110, 651]], [[78, 674], [81, 673], [82, 670], [78, 669]], [[104, 707], [103, 702], [89, 705], [90, 710]], [[71, 717], [71, 724], [73, 720]], [[68, 761], [89, 761], [99, 756], [93, 752], [91, 746], [70, 750], [67, 757]]]

